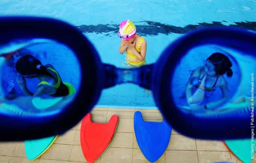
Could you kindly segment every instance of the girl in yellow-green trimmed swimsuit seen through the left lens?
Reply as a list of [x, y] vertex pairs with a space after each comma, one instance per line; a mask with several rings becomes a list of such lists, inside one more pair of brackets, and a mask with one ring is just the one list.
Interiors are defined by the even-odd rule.
[[[75, 88], [69, 82], [62, 82], [59, 73], [50, 64], [42, 63], [32, 55], [24, 55], [15, 65], [18, 72], [16, 81], [22, 92], [30, 96], [47, 94], [53, 97], [68, 96], [75, 93]], [[26, 86], [26, 79], [37, 78], [39, 84], [36, 92], [32, 93]]]

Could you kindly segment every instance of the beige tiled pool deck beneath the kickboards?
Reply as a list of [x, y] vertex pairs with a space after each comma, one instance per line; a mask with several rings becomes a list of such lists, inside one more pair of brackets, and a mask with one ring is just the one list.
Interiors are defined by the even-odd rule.
[[[94, 108], [92, 121], [106, 123], [114, 114], [119, 116], [119, 126], [109, 148], [95, 163], [148, 163], [141, 153], [133, 133], [133, 114], [141, 111], [145, 121], [161, 122], [159, 110]], [[85, 163], [80, 145], [81, 122], [59, 136], [39, 159], [26, 158], [24, 142], [0, 143], [0, 163]], [[174, 130], [167, 150], [157, 163], [213, 163], [227, 161], [241, 163], [228, 151], [222, 141], [191, 139]], [[254, 159], [252, 163], [256, 163]]]

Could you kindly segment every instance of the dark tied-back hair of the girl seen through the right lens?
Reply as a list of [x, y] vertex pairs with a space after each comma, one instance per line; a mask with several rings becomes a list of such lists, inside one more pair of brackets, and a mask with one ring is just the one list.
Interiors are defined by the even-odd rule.
[[207, 60], [212, 62], [217, 75], [223, 75], [227, 73], [228, 77], [232, 77], [233, 71], [232, 69], [230, 69], [230, 67], [232, 67], [232, 63], [230, 59], [228, 59], [228, 57], [226, 57], [224, 54], [213, 53], [212, 55], [210, 55], [210, 57], [208, 57]]

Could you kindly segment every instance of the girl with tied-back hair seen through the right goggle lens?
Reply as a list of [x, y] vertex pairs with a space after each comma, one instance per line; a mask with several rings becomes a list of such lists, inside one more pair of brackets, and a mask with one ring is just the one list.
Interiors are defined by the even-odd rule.
[[[233, 71], [230, 67], [232, 63], [228, 57], [222, 53], [213, 53], [206, 59], [204, 66], [192, 71], [185, 90], [187, 104], [191, 109], [199, 108], [199, 104], [204, 103], [206, 97], [211, 98], [217, 88], [222, 92], [222, 99], [228, 97], [228, 83], [223, 75], [232, 77]], [[204, 108], [208, 108], [209, 105], [212, 108], [221, 102], [222, 100], [209, 103], [204, 105]]]

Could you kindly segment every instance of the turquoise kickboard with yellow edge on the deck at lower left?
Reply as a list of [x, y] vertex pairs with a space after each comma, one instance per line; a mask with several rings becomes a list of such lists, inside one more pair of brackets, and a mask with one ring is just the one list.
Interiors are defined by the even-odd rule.
[[25, 152], [29, 160], [34, 160], [42, 155], [55, 141], [57, 136], [42, 139], [26, 140]]

